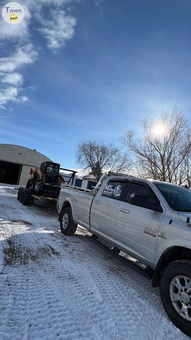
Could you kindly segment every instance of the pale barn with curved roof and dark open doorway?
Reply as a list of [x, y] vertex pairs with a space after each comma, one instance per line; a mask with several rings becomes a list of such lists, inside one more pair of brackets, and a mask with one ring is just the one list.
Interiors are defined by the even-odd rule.
[[0, 183], [26, 185], [31, 167], [50, 158], [20, 145], [0, 144]]

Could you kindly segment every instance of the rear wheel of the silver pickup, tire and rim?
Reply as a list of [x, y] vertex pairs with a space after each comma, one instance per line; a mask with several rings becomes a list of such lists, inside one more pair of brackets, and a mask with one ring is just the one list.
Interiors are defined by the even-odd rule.
[[60, 230], [64, 235], [73, 235], [78, 225], [74, 222], [71, 208], [64, 208], [60, 215]]

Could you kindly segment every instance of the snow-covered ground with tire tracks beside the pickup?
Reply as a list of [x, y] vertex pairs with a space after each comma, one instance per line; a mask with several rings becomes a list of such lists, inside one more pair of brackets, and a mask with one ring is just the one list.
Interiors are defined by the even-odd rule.
[[0, 185], [0, 340], [189, 339], [150, 281], [16, 195]]

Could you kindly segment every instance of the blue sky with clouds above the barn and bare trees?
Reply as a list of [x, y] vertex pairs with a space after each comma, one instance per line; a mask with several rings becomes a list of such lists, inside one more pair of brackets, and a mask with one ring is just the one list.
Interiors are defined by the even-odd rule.
[[78, 168], [81, 140], [120, 145], [144, 116], [191, 116], [190, 0], [19, 3], [21, 23], [0, 17], [1, 143]]

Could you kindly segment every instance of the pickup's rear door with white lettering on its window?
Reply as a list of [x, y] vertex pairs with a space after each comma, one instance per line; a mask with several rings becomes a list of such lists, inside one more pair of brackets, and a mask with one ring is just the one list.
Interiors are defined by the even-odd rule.
[[124, 181], [109, 180], [96, 194], [90, 213], [91, 231], [113, 240], [115, 220]]

